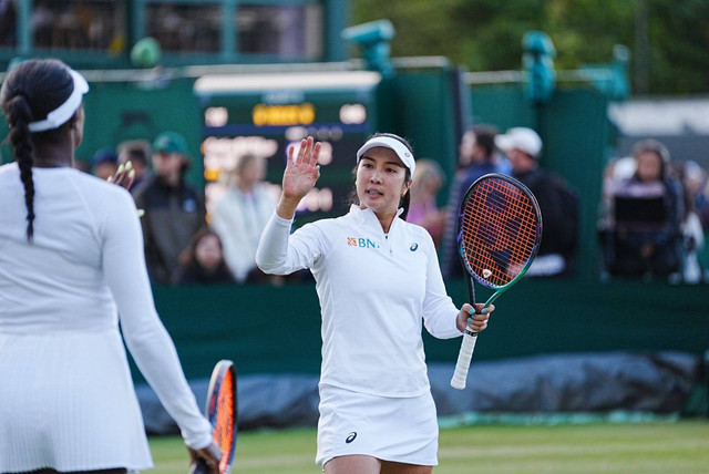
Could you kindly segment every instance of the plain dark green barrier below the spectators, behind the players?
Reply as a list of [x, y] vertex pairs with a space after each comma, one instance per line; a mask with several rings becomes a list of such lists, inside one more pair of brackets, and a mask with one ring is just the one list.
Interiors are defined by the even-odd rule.
[[[462, 303], [464, 281], [446, 285]], [[235, 360], [239, 373], [319, 372], [312, 285], [160, 287], [155, 299], [188, 378], [208, 377], [223, 358]], [[496, 306], [475, 360], [617, 350], [699, 357], [709, 349], [709, 286], [525, 280]], [[454, 363], [460, 339], [424, 339], [429, 361]]]

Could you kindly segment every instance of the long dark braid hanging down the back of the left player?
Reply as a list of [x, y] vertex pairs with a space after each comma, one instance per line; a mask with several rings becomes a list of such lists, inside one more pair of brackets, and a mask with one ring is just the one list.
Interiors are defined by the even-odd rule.
[[34, 235], [34, 182], [32, 181], [32, 143], [28, 124], [32, 122], [32, 111], [23, 94], [18, 94], [6, 105], [14, 159], [20, 168], [20, 179], [24, 186], [24, 205], [27, 206], [27, 239]]

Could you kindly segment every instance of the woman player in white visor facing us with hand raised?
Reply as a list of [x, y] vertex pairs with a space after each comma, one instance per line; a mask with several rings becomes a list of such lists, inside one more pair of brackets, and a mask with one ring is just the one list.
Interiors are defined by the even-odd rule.
[[[256, 255], [266, 272], [309, 268], [322, 310], [316, 463], [327, 474], [428, 474], [438, 464], [436, 413], [422, 321], [438, 338], [487, 326], [445, 293], [425, 229], [404, 221], [415, 161], [407, 141], [377, 134], [357, 152], [359, 204], [290, 235], [298, 203], [320, 176], [320, 144], [288, 152], [282, 193]], [[482, 310], [477, 305], [476, 312]]]

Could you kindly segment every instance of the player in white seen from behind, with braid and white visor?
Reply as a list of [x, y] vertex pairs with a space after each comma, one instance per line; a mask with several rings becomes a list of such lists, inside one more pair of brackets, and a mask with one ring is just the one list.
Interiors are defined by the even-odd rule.
[[123, 338], [216, 474], [218, 449], [155, 311], [124, 188], [72, 168], [84, 78], [27, 61], [0, 91], [16, 163], [0, 167], [0, 472], [152, 466]]

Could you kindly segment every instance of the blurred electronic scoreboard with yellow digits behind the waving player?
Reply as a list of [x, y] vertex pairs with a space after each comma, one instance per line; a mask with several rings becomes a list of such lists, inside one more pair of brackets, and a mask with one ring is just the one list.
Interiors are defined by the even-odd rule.
[[357, 150], [378, 130], [380, 81], [369, 71], [199, 78], [207, 210], [226, 190], [224, 174], [245, 154], [266, 158], [266, 181], [279, 194], [287, 147], [312, 135], [322, 142], [320, 179], [302, 200], [298, 224], [347, 212]]

